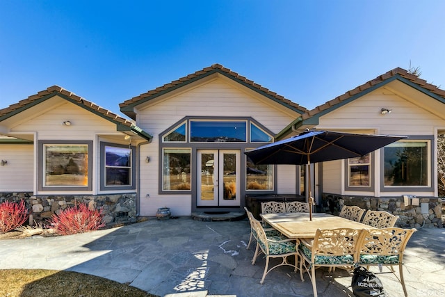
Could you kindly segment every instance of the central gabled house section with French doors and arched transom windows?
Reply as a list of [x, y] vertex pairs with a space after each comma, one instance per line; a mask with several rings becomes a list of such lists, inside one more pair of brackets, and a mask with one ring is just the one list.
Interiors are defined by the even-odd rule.
[[[222, 65], [212, 65], [120, 104], [122, 113], [153, 135], [140, 146], [142, 215], [236, 211], [245, 195], [296, 193], [295, 166], [255, 166], [246, 150], [307, 109]], [[277, 178], [280, 176], [280, 178]]]

